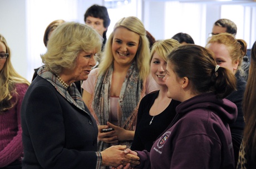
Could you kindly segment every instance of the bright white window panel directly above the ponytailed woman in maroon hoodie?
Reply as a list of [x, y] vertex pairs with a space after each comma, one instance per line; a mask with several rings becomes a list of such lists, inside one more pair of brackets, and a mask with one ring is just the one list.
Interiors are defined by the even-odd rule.
[[166, 2], [165, 11], [165, 38], [183, 32], [188, 33], [195, 44], [205, 45], [205, 4]]

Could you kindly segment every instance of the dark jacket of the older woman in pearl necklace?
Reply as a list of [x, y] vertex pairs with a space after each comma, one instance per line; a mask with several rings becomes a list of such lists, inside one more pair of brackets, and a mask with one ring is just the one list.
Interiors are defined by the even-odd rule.
[[23, 168], [96, 168], [97, 124], [37, 76], [21, 110]]

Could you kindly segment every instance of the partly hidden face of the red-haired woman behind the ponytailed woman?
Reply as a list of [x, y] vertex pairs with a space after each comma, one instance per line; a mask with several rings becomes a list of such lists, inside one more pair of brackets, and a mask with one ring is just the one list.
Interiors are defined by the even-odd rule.
[[214, 53], [213, 58], [218, 65], [229, 69], [235, 74], [238, 69], [239, 60], [233, 62], [226, 45], [214, 42], [206, 45], [206, 48]]

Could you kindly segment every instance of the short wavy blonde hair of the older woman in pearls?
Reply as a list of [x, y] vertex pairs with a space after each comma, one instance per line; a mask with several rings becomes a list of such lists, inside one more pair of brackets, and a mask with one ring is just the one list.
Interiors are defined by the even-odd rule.
[[51, 34], [47, 52], [41, 55], [45, 69], [60, 74], [62, 69], [74, 69], [76, 58], [82, 51], [101, 51], [102, 37], [92, 27], [77, 23], [60, 24]]

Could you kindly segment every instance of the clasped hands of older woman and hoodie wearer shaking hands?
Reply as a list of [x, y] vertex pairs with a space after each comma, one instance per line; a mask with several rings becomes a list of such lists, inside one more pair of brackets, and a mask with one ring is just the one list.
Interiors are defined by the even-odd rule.
[[112, 169], [130, 169], [140, 164], [137, 152], [126, 149], [125, 145], [111, 146], [101, 151], [101, 166], [112, 166]]

